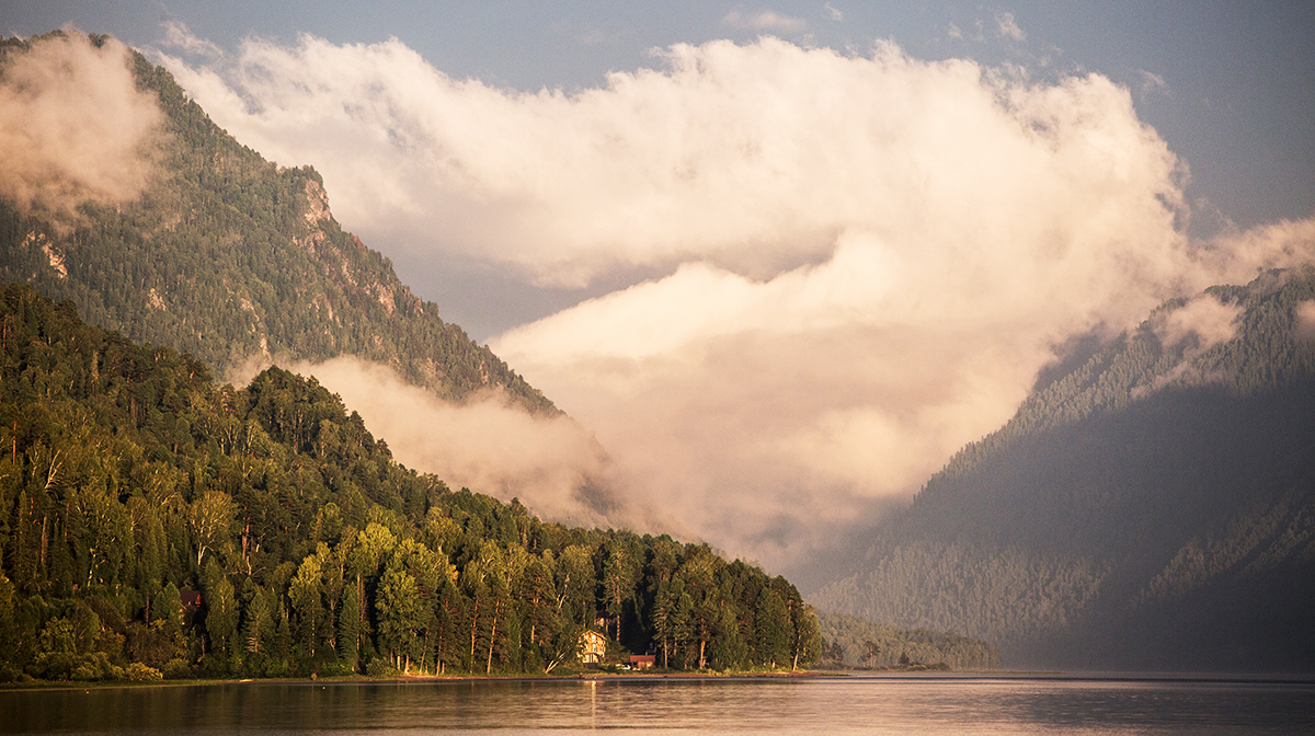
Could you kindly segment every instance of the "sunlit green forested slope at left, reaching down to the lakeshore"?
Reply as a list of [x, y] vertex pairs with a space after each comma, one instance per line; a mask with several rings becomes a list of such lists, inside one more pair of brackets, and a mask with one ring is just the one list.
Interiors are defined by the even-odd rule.
[[818, 655], [785, 578], [451, 492], [313, 380], [217, 385], [24, 285], [0, 447], [0, 681], [542, 673], [585, 628], [672, 669]]

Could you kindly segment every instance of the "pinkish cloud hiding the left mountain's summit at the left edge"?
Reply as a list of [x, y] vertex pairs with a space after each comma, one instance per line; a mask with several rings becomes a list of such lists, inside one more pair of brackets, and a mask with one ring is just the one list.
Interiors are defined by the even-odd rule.
[[0, 198], [68, 223], [83, 202], [137, 197], [163, 122], [128, 49], [75, 30], [11, 47], [0, 76]]

